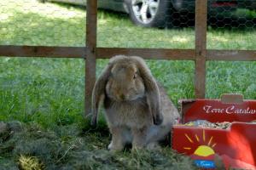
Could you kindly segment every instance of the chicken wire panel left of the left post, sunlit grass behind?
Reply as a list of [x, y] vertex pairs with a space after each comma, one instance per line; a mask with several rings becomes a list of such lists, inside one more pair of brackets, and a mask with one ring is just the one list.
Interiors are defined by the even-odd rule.
[[85, 46], [85, 9], [37, 0], [0, 1], [0, 45]]

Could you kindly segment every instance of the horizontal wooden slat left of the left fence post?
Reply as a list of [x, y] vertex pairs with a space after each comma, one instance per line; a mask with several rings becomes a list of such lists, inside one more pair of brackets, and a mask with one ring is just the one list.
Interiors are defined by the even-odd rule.
[[0, 46], [0, 56], [84, 58], [84, 47]]

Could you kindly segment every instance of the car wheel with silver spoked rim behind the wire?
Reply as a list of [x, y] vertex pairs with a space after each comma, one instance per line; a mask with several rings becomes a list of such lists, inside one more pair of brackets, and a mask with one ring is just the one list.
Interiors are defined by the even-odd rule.
[[166, 27], [170, 0], [125, 0], [131, 20], [139, 26]]

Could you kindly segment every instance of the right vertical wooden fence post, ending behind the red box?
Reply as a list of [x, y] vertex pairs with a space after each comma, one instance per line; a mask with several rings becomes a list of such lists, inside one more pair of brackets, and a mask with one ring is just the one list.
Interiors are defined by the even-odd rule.
[[195, 97], [206, 95], [207, 0], [195, 1]]

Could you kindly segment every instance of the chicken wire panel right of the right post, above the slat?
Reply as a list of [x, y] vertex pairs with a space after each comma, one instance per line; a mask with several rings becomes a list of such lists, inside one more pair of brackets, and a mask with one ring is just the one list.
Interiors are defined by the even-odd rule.
[[207, 48], [256, 49], [256, 1], [208, 3]]

